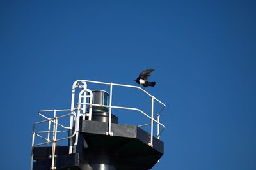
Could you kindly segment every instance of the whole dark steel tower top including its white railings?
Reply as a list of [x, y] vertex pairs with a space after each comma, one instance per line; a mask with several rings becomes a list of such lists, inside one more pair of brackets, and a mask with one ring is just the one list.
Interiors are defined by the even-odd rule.
[[[88, 89], [88, 83], [108, 85], [109, 104], [93, 103], [95, 95], [93, 96], [93, 91]], [[113, 87], [115, 86], [138, 89], [147, 94], [151, 98], [151, 112], [147, 114], [138, 108], [113, 106]], [[79, 90], [79, 96], [75, 103], [77, 90]], [[157, 113], [154, 113], [154, 102], [163, 106]], [[96, 115], [93, 107], [108, 108], [107, 112], [97, 112], [100, 117], [105, 117], [104, 120], [93, 120], [93, 115], [94, 117]], [[163, 155], [163, 142], [160, 136], [165, 126], [160, 122], [160, 115], [165, 107], [163, 102], [138, 86], [77, 80], [72, 85], [70, 109], [38, 112], [45, 120], [33, 125], [31, 170], [150, 169]], [[117, 124], [118, 118], [116, 120], [113, 115], [113, 108], [141, 113], [148, 118], [148, 124]], [[52, 117], [49, 113], [52, 113]], [[59, 120], [65, 120], [69, 125], [60, 124]], [[156, 136], [154, 136], [154, 123], [157, 126]], [[36, 127], [42, 124], [47, 124], [46, 129], [36, 131]], [[141, 129], [147, 125], [150, 125], [149, 132]], [[58, 138], [60, 133], [67, 135]], [[42, 142], [36, 142], [35, 138], [42, 139]], [[58, 146], [57, 143], [63, 140], [67, 140], [68, 145]], [[140, 159], [141, 162], [138, 162]]]

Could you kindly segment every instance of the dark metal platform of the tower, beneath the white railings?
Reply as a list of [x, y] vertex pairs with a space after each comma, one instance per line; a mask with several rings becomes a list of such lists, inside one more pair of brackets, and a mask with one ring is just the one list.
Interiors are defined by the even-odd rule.
[[[107, 122], [83, 120], [79, 136], [83, 138], [82, 149], [77, 153], [68, 154], [68, 147], [56, 146], [56, 169], [81, 169], [92, 164], [115, 164], [118, 170], [151, 169], [161, 158], [164, 151], [163, 141], [154, 138], [154, 146], [149, 146], [148, 132], [134, 125], [112, 124], [113, 136], [106, 135]], [[34, 169], [44, 170], [51, 168], [51, 147], [36, 147]], [[111, 160], [106, 162], [105, 157], [111, 155]], [[95, 154], [92, 154], [95, 153]], [[80, 155], [79, 155], [80, 154]], [[79, 157], [85, 155], [84, 157]], [[102, 157], [102, 156], [101, 156]]]

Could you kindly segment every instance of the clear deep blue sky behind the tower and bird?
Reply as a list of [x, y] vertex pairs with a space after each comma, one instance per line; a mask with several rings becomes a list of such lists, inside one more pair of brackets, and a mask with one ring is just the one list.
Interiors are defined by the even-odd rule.
[[73, 81], [136, 85], [152, 67], [148, 92], [167, 105], [154, 169], [255, 170], [255, 9], [255, 1], [1, 1], [1, 169], [29, 169], [36, 113], [69, 108]]

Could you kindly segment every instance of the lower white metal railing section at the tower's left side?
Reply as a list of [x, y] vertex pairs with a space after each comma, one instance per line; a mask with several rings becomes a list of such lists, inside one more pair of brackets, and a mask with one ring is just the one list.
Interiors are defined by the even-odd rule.
[[[58, 111], [70, 111], [70, 113], [57, 117], [56, 112], [58, 112]], [[48, 118], [48, 117], [46, 117], [45, 115], [42, 114], [42, 113], [45, 113], [45, 112], [53, 112], [53, 118]], [[58, 120], [60, 118], [65, 118], [65, 117], [69, 117], [70, 115], [72, 115], [73, 117], [75, 117], [75, 121], [76, 121], [77, 120], [76, 113], [74, 112], [74, 110], [72, 111], [70, 109], [67, 109], [67, 110], [42, 110], [42, 111], [39, 111], [38, 114], [40, 116], [44, 117], [46, 120], [42, 120], [40, 122], [36, 122], [35, 124], [33, 124], [32, 150], [31, 150], [31, 170], [33, 170], [33, 156], [34, 156], [33, 152], [34, 152], [34, 148], [36, 146], [48, 145], [50, 143], [52, 143], [52, 155], [51, 155], [52, 165], [51, 165], [51, 169], [56, 169], [56, 166], [55, 166], [55, 150], [56, 150], [57, 141], [63, 141], [65, 139], [73, 138], [76, 135], [76, 131], [77, 131], [77, 129], [75, 129], [73, 134], [71, 134], [70, 136], [67, 136], [65, 138], [57, 139], [57, 133], [58, 132], [69, 132], [69, 130], [70, 130], [70, 127], [65, 127], [64, 125], [59, 124]], [[38, 132], [36, 132], [35, 131], [36, 130], [36, 125], [44, 124], [45, 122], [48, 122], [48, 131], [38, 131]], [[53, 122], [52, 131], [51, 131], [51, 122]], [[68, 129], [68, 130], [67, 131], [65, 131], [65, 130], [64, 131], [58, 131], [58, 126], [64, 128], [64, 129]], [[75, 122], [75, 127], [76, 127], [76, 122]], [[41, 136], [40, 134], [47, 134], [47, 138], [45, 138], [44, 136]], [[52, 134], [52, 140], [50, 139], [50, 134]], [[39, 138], [44, 139], [45, 142], [35, 144], [35, 136], [38, 136]]]

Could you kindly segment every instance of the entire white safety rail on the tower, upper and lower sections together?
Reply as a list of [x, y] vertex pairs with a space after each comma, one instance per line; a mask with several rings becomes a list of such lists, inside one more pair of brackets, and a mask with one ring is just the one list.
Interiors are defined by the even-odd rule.
[[[87, 83], [96, 83], [96, 84], [100, 84], [100, 85], [108, 85], [109, 86], [109, 105], [108, 106], [92, 103], [93, 94], [90, 89], [87, 89], [87, 86], [88, 86]], [[145, 94], [147, 94], [147, 96], [149, 96], [151, 98], [151, 106], [150, 106], [151, 112], [147, 114], [138, 108], [113, 106], [112, 105], [113, 87], [115, 87], [115, 86], [138, 89], [138, 90], [141, 90], [142, 92], [144, 92]], [[79, 91], [77, 103], [75, 104], [76, 90], [80, 90], [80, 91]], [[161, 108], [161, 110], [157, 113], [154, 113], [154, 103], [155, 102], [160, 103], [163, 106], [163, 108]], [[68, 142], [69, 151], [68, 152], [69, 153], [76, 152], [76, 150], [74, 150], [74, 148], [76, 148], [76, 147], [74, 147], [74, 146], [77, 145], [80, 117], [83, 117], [83, 120], [86, 117], [88, 117], [88, 120], [92, 120], [92, 106], [102, 106], [102, 107], [109, 108], [109, 122], [111, 122], [112, 108], [116, 108], [116, 109], [120, 109], [120, 110], [134, 110], [134, 111], [137, 111], [138, 113], [141, 113], [145, 117], [147, 117], [149, 120], [148, 124], [138, 125], [138, 127], [150, 125], [150, 132], [149, 132], [150, 133], [150, 143], [148, 143], [148, 145], [150, 145], [150, 146], [153, 146], [154, 123], [157, 124], [157, 136], [156, 136], [157, 139], [160, 139], [160, 135], [165, 129], [165, 126], [163, 124], [161, 124], [161, 122], [160, 122], [160, 115], [163, 112], [166, 105], [163, 102], [159, 101], [159, 99], [157, 99], [156, 97], [152, 96], [147, 91], [142, 89], [141, 87], [134, 86], [134, 85], [105, 83], [105, 82], [100, 82], [100, 81], [77, 80], [72, 85], [72, 99], [71, 99], [71, 108], [70, 109], [39, 111], [38, 114], [41, 117], [44, 117], [45, 120], [36, 122], [33, 125], [31, 170], [33, 170], [33, 150], [36, 146], [49, 145], [50, 143], [52, 143], [52, 155], [51, 155], [52, 166], [51, 166], [51, 169], [56, 169], [56, 167], [55, 167], [55, 148], [57, 145], [56, 144], [57, 141], [63, 141], [65, 139], [68, 139], [69, 140], [69, 142]], [[57, 112], [63, 112], [63, 111], [69, 111], [69, 113], [66, 115], [57, 116], [57, 114], [56, 114]], [[86, 111], [88, 111], [88, 113]], [[45, 115], [46, 113], [49, 114], [49, 112], [53, 113], [52, 118], [49, 118], [49, 116]], [[69, 126], [64, 126], [64, 125], [61, 125], [60, 123], [58, 123], [58, 120], [60, 120], [60, 118], [65, 118], [65, 117], [70, 117]], [[44, 124], [45, 122], [48, 122], [48, 128], [46, 131], [35, 131], [37, 125]], [[51, 129], [51, 127], [52, 127], [52, 129]], [[67, 129], [67, 130], [58, 131], [58, 127], [61, 127], [63, 129]], [[60, 132], [67, 132], [68, 133], [67, 137], [58, 139], [57, 134]], [[42, 134], [47, 134], [47, 137], [42, 136]], [[52, 134], [52, 139], [50, 139], [51, 134]], [[113, 132], [111, 132], [111, 124], [108, 124], [108, 132], [106, 132], [106, 135], [113, 136]], [[35, 144], [35, 137], [44, 139], [45, 142]], [[75, 137], [75, 138], [73, 138], [73, 137]]]

